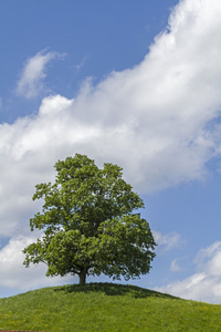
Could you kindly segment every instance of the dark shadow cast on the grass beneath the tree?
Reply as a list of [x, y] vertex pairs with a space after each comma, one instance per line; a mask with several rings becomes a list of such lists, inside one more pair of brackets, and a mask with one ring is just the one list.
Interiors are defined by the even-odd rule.
[[172, 297], [170, 294], [160, 293], [154, 290], [140, 288], [137, 286], [130, 286], [130, 284], [118, 284], [118, 283], [110, 283], [110, 282], [94, 282], [94, 283], [87, 283], [84, 286], [81, 284], [67, 284], [63, 287], [57, 287], [55, 291], [64, 291], [66, 293], [72, 292], [102, 292], [106, 295], [129, 295], [135, 299], [146, 299], [149, 297], [155, 298], [165, 298], [170, 300], [178, 300], [179, 298]]

